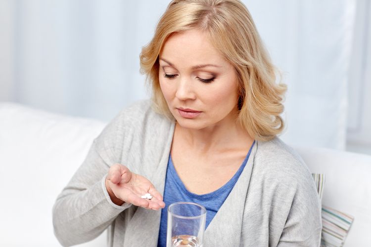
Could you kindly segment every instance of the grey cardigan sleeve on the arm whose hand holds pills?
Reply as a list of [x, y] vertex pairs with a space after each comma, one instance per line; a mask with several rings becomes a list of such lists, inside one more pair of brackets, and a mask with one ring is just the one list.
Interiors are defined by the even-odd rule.
[[[121, 114], [122, 115], [122, 114]], [[115, 205], [105, 188], [110, 165], [120, 162], [119, 115], [94, 140], [90, 151], [53, 206], [54, 234], [62, 246], [72, 246], [99, 236], [131, 204]]]

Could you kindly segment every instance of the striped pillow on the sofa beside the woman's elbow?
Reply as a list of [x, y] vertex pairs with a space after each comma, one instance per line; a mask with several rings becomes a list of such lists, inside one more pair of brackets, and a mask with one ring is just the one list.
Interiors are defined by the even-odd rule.
[[[322, 200], [325, 175], [313, 173], [312, 176]], [[353, 220], [354, 217], [323, 205], [321, 247], [342, 247]]]

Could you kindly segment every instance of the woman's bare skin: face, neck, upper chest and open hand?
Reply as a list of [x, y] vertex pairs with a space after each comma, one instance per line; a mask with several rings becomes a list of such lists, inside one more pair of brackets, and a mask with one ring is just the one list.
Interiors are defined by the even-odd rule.
[[[253, 143], [236, 123], [235, 70], [197, 29], [172, 35], [159, 63], [161, 90], [176, 119], [171, 156], [177, 173], [190, 192], [215, 191], [232, 178]], [[165, 206], [150, 181], [125, 165], [110, 167], [106, 188], [117, 205]], [[147, 192], [152, 200], [140, 198]]]

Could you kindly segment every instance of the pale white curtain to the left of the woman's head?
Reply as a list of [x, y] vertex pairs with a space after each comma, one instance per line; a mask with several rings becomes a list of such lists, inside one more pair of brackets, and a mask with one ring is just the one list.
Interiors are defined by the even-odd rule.
[[109, 120], [147, 97], [139, 52], [167, 1], [8, 2], [14, 27], [10, 100]]

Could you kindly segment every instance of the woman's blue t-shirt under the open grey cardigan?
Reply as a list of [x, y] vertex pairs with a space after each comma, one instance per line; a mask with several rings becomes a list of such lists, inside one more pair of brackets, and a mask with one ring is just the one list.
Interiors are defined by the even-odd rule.
[[165, 180], [165, 190], [164, 190], [164, 202], [165, 207], [161, 210], [161, 222], [160, 222], [160, 231], [158, 234], [158, 247], [166, 247], [166, 228], [168, 206], [175, 202], [193, 202], [199, 205], [202, 205], [206, 208], [206, 228], [210, 224], [211, 220], [214, 218], [215, 214], [218, 212], [219, 208], [222, 206], [234, 184], [237, 182], [239, 175], [242, 173], [243, 168], [245, 167], [247, 160], [250, 156], [251, 149], [254, 146], [255, 141], [251, 145], [249, 152], [246, 155], [245, 160], [242, 162], [242, 165], [239, 167], [237, 172], [233, 175], [231, 180], [229, 180], [221, 188], [217, 189], [214, 192], [197, 195], [189, 192], [182, 180], [178, 176], [177, 171], [175, 170], [171, 155], [169, 155], [168, 167], [166, 170], [166, 180]]

